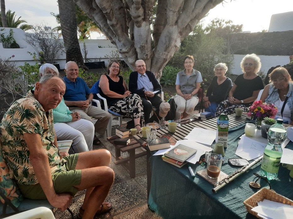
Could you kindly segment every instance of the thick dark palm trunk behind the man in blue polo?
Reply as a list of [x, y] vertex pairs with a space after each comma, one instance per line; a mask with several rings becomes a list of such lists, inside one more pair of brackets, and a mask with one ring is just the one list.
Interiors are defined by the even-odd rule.
[[74, 2], [73, 0], [58, 0], [58, 7], [62, 36], [66, 50], [66, 62], [75, 61], [79, 68], [87, 70], [88, 68], [83, 62], [77, 38]]

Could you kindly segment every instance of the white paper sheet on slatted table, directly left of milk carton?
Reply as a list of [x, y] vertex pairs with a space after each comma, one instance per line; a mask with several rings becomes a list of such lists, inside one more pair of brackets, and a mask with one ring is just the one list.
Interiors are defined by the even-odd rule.
[[203, 128], [193, 128], [192, 131], [185, 137], [185, 139], [211, 145], [216, 139], [216, 131]]

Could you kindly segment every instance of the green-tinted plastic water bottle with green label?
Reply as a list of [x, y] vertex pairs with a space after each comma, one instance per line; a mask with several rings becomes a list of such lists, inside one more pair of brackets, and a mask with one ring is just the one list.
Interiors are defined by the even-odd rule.
[[263, 152], [263, 161], [260, 175], [268, 180], [273, 180], [278, 176], [283, 150], [281, 144], [285, 141], [287, 131], [282, 125], [283, 119], [278, 118], [277, 123], [268, 129], [268, 144]]

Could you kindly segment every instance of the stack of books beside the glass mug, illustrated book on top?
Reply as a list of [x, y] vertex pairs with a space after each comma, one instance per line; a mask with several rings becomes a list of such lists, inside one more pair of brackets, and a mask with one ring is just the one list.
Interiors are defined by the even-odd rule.
[[175, 148], [167, 151], [163, 156], [163, 161], [181, 168], [187, 163], [187, 159], [196, 153], [196, 149], [183, 144], [178, 144]]

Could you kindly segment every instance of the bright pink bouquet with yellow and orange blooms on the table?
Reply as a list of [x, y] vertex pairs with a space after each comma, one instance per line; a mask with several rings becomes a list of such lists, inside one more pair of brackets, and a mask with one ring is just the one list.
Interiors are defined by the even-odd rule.
[[272, 103], [263, 103], [261, 100], [255, 101], [249, 108], [247, 116], [256, 116], [258, 118], [271, 117], [274, 118], [278, 109]]

